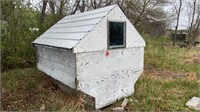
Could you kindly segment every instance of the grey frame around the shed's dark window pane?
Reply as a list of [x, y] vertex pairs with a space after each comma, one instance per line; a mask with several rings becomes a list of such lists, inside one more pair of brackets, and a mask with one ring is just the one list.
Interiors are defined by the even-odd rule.
[[[110, 46], [110, 22], [119, 22], [124, 23], [123, 28], [123, 45], [116, 45], [116, 46]], [[107, 48], [108, 49], [117, 49], [117, 48], [125, 48], [126, 47], [126, 21], [107, 21]]]

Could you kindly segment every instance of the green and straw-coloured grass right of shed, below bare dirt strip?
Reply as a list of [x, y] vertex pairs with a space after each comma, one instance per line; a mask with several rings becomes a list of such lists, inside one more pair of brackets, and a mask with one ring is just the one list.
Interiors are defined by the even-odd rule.
[[130, 97], [133, 99], [130, 107], [140, 111], [188, 111], [185, 104], [193, 96], [200, 96], [199, 88], [199, 81], [143, 75]]

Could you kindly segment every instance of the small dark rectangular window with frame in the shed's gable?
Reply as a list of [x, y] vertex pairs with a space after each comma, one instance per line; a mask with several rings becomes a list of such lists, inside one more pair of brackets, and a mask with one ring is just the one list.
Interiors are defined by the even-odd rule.
[[108, 22], [108, 48], [125, 47], [125, 22]]

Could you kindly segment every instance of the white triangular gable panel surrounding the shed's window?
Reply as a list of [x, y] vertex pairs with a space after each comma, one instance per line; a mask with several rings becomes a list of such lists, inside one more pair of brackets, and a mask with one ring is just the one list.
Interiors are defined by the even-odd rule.
[[108, 21], [126, 22], [126, 48], [144, 47], [145, 42], [121, 9], [116, 6], [75, 47], [74, 53], [107, 50]]

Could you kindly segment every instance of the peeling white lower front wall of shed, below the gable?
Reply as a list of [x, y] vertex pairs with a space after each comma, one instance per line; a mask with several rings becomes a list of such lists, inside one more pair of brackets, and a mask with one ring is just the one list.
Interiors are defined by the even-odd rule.
[[144, 48], [76, 54], [78, 90], [95, 98], [96, 109], [134, 92], [143, 71]]

